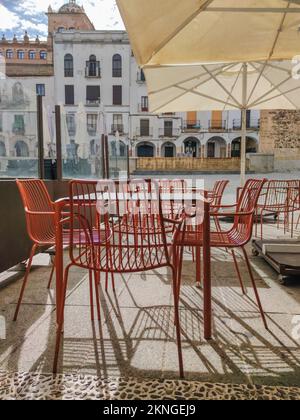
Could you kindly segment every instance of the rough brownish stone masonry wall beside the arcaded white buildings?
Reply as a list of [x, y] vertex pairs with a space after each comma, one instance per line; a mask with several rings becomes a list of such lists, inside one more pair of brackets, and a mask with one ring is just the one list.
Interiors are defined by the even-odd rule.
[[260, 152], [273, 153], [275, 170], [300, 170], [300, 111], [262, 111]]

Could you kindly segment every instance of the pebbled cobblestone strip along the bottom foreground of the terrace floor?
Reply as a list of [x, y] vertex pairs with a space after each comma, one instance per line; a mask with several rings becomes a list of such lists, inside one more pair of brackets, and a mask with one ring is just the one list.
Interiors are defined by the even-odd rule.
[[300, 400], [300, 388], [0, 372], [0, 400]]

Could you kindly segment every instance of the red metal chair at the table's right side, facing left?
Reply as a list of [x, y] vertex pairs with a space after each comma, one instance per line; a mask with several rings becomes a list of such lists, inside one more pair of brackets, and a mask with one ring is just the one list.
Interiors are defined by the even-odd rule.
[[[253, 232], [253, 224], [255, 218], [255, 211], [261, 190], [266, 180], [248, 180], [243, 191], [241, 192], [239, 202], [234, 212], [219, 212], [215, 211], [211, 213], [212, 217], [233, 217], [233, 226], [229, 230], [223, 230], [220, 228], [217, 232], [211, 232], [211, 247], [212, 248], [225, 248], [225, 249], [242, 249], [247, 268], [249, 271], [251, 283], [257, 300], [257, 304], [262, 316], [262, 320], [266, 329], [268, 329], [266, 317], [261, 305], [258, 290], [255, 284], [251, 264], [245, 250], [245, 246], [250, 242]], [[224, 208], [224, 206], [222, 206]], [[229, 207], [229, 206], [228, 206]], [[196, 231], [187, 231], [186, 229], [181, 232], [181, 235], [177, 237], [177, 245], [181, 247], [193, 246], [201, 248], [203, 244], [203, 230], [200, 228]], [[182, 264], [182, 258], [180, 259], [180, 265]], [[181, 270], [180, 272], [181, 273]], [[180, 276], [179, 276], [180, 280]], [[240, 279], [241, 280], [241, 279]], [[241, 281], [242, 285], [242, 281]], [[242, 285], [243, 287], [243, 285]], [[180, 290], [180, 284], [178, 287]], [[179, 296], [178, 296], [179, 298]]]

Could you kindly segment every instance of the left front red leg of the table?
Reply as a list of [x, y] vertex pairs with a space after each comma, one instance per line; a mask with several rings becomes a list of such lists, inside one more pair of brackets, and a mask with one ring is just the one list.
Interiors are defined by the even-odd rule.
[[59, 319], [59, 308], [63, 289], [63, 228], [61, 206], [55, 206], [55, 269], [56, 269], [56, 320]]

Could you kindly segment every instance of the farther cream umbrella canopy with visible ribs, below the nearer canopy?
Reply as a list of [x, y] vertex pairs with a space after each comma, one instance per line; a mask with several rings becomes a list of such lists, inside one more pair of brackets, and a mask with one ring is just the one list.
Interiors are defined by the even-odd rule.
[[148, 68], [150, 108], [152, 112], [299, 109], [296, 69], [291, 61]]

